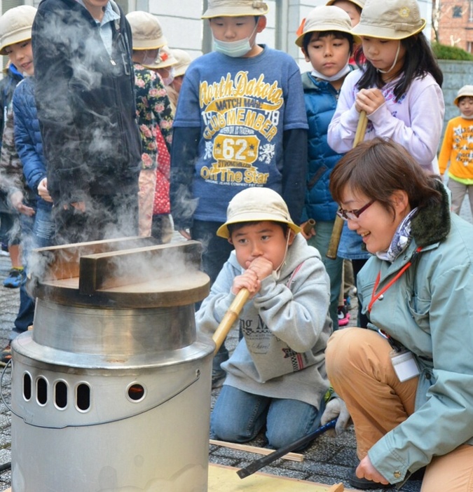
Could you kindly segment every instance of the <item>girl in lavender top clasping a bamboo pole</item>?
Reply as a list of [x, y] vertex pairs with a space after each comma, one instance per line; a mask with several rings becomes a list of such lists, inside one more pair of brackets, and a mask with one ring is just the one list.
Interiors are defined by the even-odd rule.
[[[359, 23], [352, 28], [352, 34], [362, 38], [357, 57], [366, 57], [366, 62], [345, 78], [327, 135], [336, 152], [352, 149], [360, 111], [366, 111], [365, 140], [393, 139], [425, 172], [439, 172], [443, 76], [422, 32], [424, 27], [416, 0], [366, 0]], [[362, 249], [362, 238], [347, 224], [338, 256], [352, 260], [355, 279], [369, 258]], [[359, 313], [359, 326], [366, 327], [367, 322]]]

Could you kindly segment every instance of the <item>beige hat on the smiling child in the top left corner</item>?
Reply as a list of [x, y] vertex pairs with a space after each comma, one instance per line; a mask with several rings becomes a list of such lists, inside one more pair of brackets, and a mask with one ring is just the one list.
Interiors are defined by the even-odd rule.
[[7, 46], [32, 39], [35, 15], [36, 8], [30, 5], [20, 5], [10, 8], [0, 17], [0, 55], [6, 55]]

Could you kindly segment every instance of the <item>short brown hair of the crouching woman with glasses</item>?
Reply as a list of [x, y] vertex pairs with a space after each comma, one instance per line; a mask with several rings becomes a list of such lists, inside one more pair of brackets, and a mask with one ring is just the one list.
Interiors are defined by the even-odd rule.
[[330, 175], [330, 193], [341, 203], [346, 186], [376, 200], [394, 214], [392, 193], [407, 193], [411, 208], [429, 207], [441, 202], [434, 180], [427, 175], [416, 159], [393, 140], [375, 137], [358, 144], [336, 164]]

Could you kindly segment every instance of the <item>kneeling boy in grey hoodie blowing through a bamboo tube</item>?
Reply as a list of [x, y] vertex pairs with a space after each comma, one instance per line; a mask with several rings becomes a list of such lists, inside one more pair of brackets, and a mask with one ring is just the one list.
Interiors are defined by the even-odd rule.
[[[242, 288], [251, 299], [239, 315], [242, 339], [222, 364], [215, 439], [247, 442], [266, 426], [269, 446], [280, 448], [324, 420], [330, 284], [300, 231], [281, 196], [256, 187], [232, 198], [217, 231], [235, 250], [196, 313], [198, 329], [213, 333]], [[343, 428], [348, 415], [339, 421]]]

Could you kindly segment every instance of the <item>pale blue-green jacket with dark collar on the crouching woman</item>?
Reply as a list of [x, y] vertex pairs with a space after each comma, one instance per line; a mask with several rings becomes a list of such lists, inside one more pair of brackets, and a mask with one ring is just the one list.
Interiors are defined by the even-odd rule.
[[420, 210], [413, 240], [390, 264], [371, 257], [358, 276], [363, 310], [378, 272], [379, 292], [413, 256], [413, 264], [373, 303], [371, 329], [383, 329], [415, 355], [420, 367], [413, 415], [369, 451], [395, 484], [460, 444], [473, 444], [473, 225], [443, 203]]

